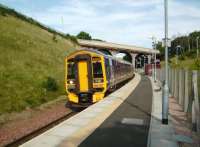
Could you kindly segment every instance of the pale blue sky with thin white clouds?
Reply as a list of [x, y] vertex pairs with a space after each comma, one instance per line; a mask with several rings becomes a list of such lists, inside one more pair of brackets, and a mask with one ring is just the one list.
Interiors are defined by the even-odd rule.
[[[169, 1], [169, 37], [200, 30], [200, 0]], [[164, 38], [164, 0], [0, 0], [63, 33], [152, 47]]]

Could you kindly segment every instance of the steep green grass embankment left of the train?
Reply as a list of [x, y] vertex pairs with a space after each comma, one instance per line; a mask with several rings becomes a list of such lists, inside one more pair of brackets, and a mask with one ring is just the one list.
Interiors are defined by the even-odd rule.
[[75, 48], [59, 35], [0, 13], [0, 115], [64, 94], [64, 57]]

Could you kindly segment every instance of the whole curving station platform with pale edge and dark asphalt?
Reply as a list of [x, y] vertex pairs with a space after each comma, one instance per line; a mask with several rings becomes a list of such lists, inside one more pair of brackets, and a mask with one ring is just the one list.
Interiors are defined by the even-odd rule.
[[150, 78], [136, 74], [102, 101], [21, 146], [176, 147], [171, 125], [161, 124], [162, 94], [154, 88]]

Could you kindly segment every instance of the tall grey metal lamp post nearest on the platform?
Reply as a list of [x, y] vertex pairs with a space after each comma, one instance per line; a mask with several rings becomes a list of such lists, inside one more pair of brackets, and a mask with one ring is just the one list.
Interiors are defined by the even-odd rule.
[[168, 124], [168, 0], [164, 0], [164, 14], [165, 14], [165, 84], [162, 98], [162, 123]]

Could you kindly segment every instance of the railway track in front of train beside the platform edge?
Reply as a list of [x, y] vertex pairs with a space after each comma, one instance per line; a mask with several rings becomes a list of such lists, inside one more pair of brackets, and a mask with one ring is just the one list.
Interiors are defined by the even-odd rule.
[[50, 122], [49, 124], [37, 129], [37, 130], [34, 130], [33, 132], [19, 138], [19, 139], [16, 139], [14, 140], [13, 142], [10, 142], [9, 144], [7, 144], [5, 147], [18, 147], [19, 145], [31, 140], [32, 138], [42, 134], [43, 132], [53, 128], [54, 126], [60, 124], [61, 122], [69, 119], [70, 117], [72, 117], [73, 115], [77, 114], [78, 112], [69, 112], [68, 114], [64, 115], [63, 117], [60, 117], [59, 119], [53, 121], [53, 122]]

